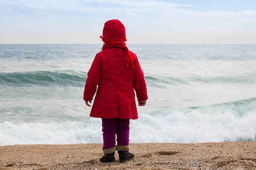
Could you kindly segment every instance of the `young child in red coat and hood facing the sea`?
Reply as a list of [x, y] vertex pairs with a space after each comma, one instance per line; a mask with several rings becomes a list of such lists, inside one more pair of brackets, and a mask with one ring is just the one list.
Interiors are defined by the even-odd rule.
[[129, 153], [130, 119], [138, 119], [134, 90], [138, 105], [145, 106], [146, 82], [136, 54], [125, 44], [125, 27], [119, 20], [107, 21], [100, 38], [104, 45], [88, 71], [83, 99], [90, 106], [97, 90], [90, 116], [102, 119], [104, 156], [100, 161], [115, 161], [117, 150], [119, 161], [126, 162], [135, 157]]

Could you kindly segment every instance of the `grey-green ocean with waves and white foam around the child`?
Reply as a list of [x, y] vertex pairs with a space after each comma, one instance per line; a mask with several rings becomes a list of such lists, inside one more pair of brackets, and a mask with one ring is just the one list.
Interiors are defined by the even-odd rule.
[[[0, 146], [102, 143], [83, 101], [101, 44], [0, 44]], [[127, 44], [148, 89], [130, 143], [256, 141], [256, 45]]]

